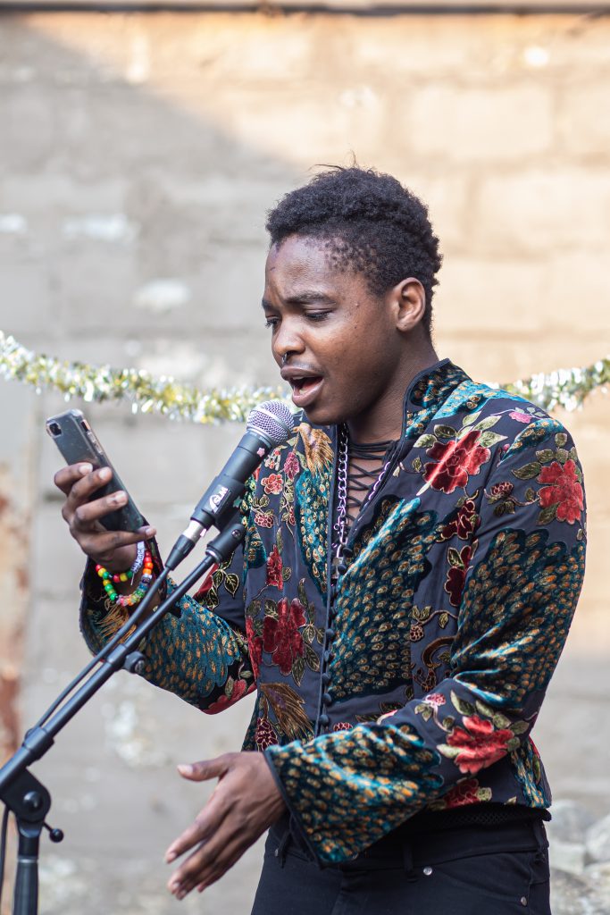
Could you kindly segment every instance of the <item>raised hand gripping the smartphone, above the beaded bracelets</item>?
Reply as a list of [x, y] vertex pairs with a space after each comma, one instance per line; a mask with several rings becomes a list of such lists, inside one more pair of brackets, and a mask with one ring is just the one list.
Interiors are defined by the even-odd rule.
[[104, 515], [116, 511], [127, 502], [127, 494], [123, 490], [89, 501], [91, 494], [104, 486], [111, 477], [110, 468], [93, 470], [91, 464], [80, 463], [61, 468], [53, 481], [66, 496], [61, 514], [82, 552], [94, 563], [118, 572], [129, 568], [134, 562], [135, 544], [141, 540], [150, 540], [156, 531], [154, 527], [141, 527], [134, 532], [107, 531], [102, 526], [100, 519]]

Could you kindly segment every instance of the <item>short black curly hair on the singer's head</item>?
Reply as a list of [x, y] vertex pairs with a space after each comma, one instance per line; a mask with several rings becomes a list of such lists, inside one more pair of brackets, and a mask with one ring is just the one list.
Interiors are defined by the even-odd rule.
[[326, 240], [337, 266], [364, 274], [373, 295], [415, 277], [425, 291], [430, 335], [442, 256], [427, 207], [396, 178], [372, 168], [329, 168], [286, 194], [266, 227], [272, 245], [289, 235]]

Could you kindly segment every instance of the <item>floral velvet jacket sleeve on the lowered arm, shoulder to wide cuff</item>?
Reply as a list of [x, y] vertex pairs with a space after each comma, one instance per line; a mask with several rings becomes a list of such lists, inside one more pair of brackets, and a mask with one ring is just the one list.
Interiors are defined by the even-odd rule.
[[[531, 762], [582, 585], [583, 524], [572, 441], [532, 423], [496, 458], [469, 554], [449, 555], [463, 585], [450, 675], [377, 723], [265, 751], [318, 861], [346, 860], [508, 754], [517, 770]], [[521, 802], [544, 805], [533, 785]]]

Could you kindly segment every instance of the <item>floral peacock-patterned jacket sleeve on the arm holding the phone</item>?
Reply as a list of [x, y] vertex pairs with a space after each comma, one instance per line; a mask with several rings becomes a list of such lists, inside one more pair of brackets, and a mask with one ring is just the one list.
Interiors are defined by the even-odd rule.
[[[242, 509], [245, 513], [246, 508]], [[152, 544], [155, 569], [163, 567]], [[182, 597], [179, 616], [167, 613], [141, 650], [144, 678], [202, 711], [216, 714], [255, 686], [243, 608], [243, 548], [216, 567], [195, 597]], [[167, 592], [176, 587], [168, 579]], [[100, 651], [123, 626], [126, 611], [112, 605], [88, 562], [81, 583], [80, 630], [91, 652]]]

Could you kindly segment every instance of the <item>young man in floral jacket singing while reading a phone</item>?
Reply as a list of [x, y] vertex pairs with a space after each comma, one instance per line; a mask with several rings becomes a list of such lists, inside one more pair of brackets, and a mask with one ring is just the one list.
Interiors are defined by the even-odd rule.
[[[530, 731], [583, 577], [573, 441], [439, 361], [438, 241], [394, 178], [326, 171], [267, 228], [262, 307], [294, 435], [250, 481], [243, 548], [144, 648], [146, 678], [203, 711], [257, 694], [240, 753], [181, 767], [219, 784], [168, 850], [186, 855], [169, 887], [209, 886], [271, 827], [255, 915], [548, 915]], [[90, 471], [56, 481], [90, 557], [97, 650], [129, 608], [95, 564], [134, 566], [134, 591], [134, 543], [154, 531], [104, 532], [116, 503], [87, 501]]]

